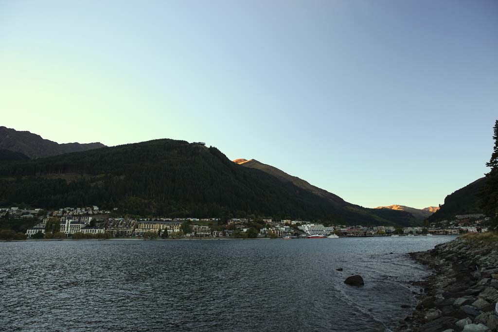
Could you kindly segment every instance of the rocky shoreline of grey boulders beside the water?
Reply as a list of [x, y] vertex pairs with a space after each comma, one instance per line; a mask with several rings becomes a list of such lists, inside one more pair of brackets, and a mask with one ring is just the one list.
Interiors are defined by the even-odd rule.
[[410, 256], [435, 270], [398, 332], [497, 332], [498, 241], [459, 237]]

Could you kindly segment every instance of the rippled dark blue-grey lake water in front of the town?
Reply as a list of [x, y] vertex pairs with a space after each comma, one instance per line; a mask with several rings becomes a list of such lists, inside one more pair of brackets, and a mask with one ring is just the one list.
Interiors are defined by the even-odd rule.
[[453, 238], [2, 242], [0, 331], [389, 331]]

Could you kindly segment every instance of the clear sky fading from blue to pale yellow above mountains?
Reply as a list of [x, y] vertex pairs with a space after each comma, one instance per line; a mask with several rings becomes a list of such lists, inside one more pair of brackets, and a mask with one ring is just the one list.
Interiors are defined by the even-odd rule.
[[0, 0], [0, 125], [204, 141], [364, 207], [488, 170], [498, 1]]

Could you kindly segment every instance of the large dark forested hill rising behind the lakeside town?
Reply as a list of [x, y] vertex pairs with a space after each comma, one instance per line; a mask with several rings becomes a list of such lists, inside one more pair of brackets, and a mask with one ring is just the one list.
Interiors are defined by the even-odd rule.
[[[0, 165], [0, 205], [99, 205], [169, 217], [254, 214], [346, 224], [395, 224], [410, 214], [341, 208], [291, 182], [240, 167], [214, 147], [160, 139]], [[394, 217], [394, 218], [390, 218]]]

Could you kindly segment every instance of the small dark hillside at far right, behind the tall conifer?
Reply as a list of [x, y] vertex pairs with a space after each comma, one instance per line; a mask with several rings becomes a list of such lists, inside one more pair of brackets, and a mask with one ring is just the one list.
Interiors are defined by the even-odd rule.
[[473, 183], [446, 196], [441, 209], [428, 218], [435, 222], [454, 218], [456, 215], [483, 213], [481, 203], [476, 194], [485, 184], [486, 178], [481, 178]]

